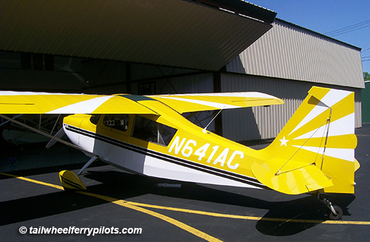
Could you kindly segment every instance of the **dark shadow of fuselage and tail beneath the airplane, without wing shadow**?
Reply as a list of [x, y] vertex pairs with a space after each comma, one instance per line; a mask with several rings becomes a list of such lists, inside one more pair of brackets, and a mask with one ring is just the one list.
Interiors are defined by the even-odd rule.
[[[297, 234], [300, 233], [300, 231], [304, 231], [320, 224], [320, 222], [328, 220], [328, 208], [317, 200], [315, 196], [300, 196], [296, 199], [294, 199], [295, 196], [288, 196], [288, 200], [273, 201], [273, 198], [264, 200], [215, 189], [214, 187], [217, 186], [209, 188], [198, 184], [142, 177], [136, 174], [125, 174], [116, 171], [89, 172], [84, 176], [102, 183], [101, 185], [89, 187], [88, 191], [123, 200], [150, 193], [168, 199], [181, 198], [185, 200], [197, 200], [221, 205], [245, 207], [246, 210], [253, 210], [254, 208], [268, 210], [268, 212], [257, 221], [256, 229], [262, 234], [271, 236]], [[159, 187], [158, 184], [169, 185], [168, 187]], [[171, 184], [181, 184], [181, 187], [171, 186]], [[255, 191], [255, 189], [243, 190], [246, 190], [247, 193], [249, 191], [252, 193]], [[261, 190], [259, 191], [261, 193]], [[277, 193], [275, 191], [265, 192]], [[277, 193], [277, 196], [285, 196], [284, 194], [280, 194], [281, 193]], [[354, 195], [325, 194], [324, 197], [331, 200], [334, 205], [339, 205], [343, 208], [344, 216], [350, 215], [346, 208], [355, 199]], [[149, 204], [155, 203], [155, 201], [151, 200], [147, 200], [146, 202]], [[183, 203], [181, 204], [183, 205]], [[221, 209], [224, 210], [224, 206]], [[300, 222], [289, 222], [290, 219], [299, 219]], [[309, 221], [304, 222], [304, 220]]]

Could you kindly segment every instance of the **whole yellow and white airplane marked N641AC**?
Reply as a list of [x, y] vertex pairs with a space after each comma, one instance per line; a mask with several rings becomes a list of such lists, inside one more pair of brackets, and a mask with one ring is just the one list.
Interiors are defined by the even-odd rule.
[[[282, 104], [259, 92], [155, 96], [51, 94], [0, 91], [3, 114], [73, 114], [56, 136], [27, 127], [80, 149], [90, 160], [75, 174], [60, 172], [65, 189], [86, 189], [78, 178], [94, 160], [123, 170], [178, 181], [310, 193], [343, 211], [320, 193], [354, 193], [354, 93], [312, 87], [280, 134], [254, 150], [202, 129], [182, 114], [204, 110]], [[84, 113], [84, 114], [77, 114]], [[67, 134], [69, 142], [61, 140]]]

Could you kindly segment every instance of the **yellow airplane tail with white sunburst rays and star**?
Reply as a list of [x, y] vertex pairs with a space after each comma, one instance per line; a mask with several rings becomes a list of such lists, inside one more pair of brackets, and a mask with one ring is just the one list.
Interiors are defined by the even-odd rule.
[[354, 93], [312, 87], [300, 108], [273, 143], [262, 150], [271, 154], [252, 172], [261, 183], [288, 194], [353, 193]]

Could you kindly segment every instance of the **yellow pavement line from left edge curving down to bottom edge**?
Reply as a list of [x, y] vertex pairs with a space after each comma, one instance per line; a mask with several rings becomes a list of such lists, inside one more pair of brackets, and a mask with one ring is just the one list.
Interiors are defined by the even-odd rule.
[[[0, 173], [2, 175], [5, 175], [5, 176], [8, 176], [8, 177], [14, 177], [14, 178], [17, 178], [17, 179], [21, 179], [23, 181], [30, 181], [32, 183], [35, 183], [35, 184], [40, 184], [40, 185], [44, 185], [44, 186], [51, 186], [55, 189], [60, 189], [60, 190], [64, 190], [63, 189], [63, 186], [57, 186], [57, 185], [54, 185], [54, 184], [50, 184], [50, 183], [47, 183], [47, 182], [44, 182], [44, 181], [37, 181], [35, 179], [29, 179], [29, 178], [26, 178], [26, 177], [19, 177], [19, 176], [16, 176], [16, 175], [13, 175], [13, 174], [7, 174], [7, 173]], [[221, 240], [219, 240], [218, 238], [215, 238], [213, 236], [210, 236], [209, 234], [206, 234], [198, 229], [195, 229], [193, 227], [190, 227], [189, 225], [187, 224], [184, 224], [183, 222], [180, 222], [176, 219], [173, 219], [171, 217], [168, 217], [166, 215], [161, 215], [159, 212], [153, 212], [151, 210], [147, 210], [145, 208], [140, 208], [140, 207], [137, 207], [136, 205], [132, 205], [130, 204], [130, 202], [126, 201], [126, 200], [121, 200], [121, 199], [117, 199], [117, 198], [111, 198], [109, 196], [103, 196], [103, 195], [99, 195], [99, 194], [95, 194], [95, 193], [89, 193], [87, 191], [75, 191], [76, 193], [80, 193], [80, 194], [83, 194], [83, 195], [87, 195], [87, 196], [92, 196], [94, 198], [99, 198], [99, 199], [102, 199], [102, 200], [106, 200], [110, 203], [114, 203], [116, 205], [121, 205], [125, 208], [130, 208], [132, 210], [137, 210], [139, 212], [144, 212], [146, 213], [147, 215], [152, 215], [154, 217], [157, 217], [159, 219], [162, 219], [170, 224], [173, 224], [175, 225], [176, 227], [179, 227], [180, 229], [183, 229], [187, 232], [189, 232], [190, 234], [194, 234], [195, 236], [198, 236], [199, 238], [203, 238], [204, 240], [206, 241], [209, 241], [209, 242], [222, 242]]]

